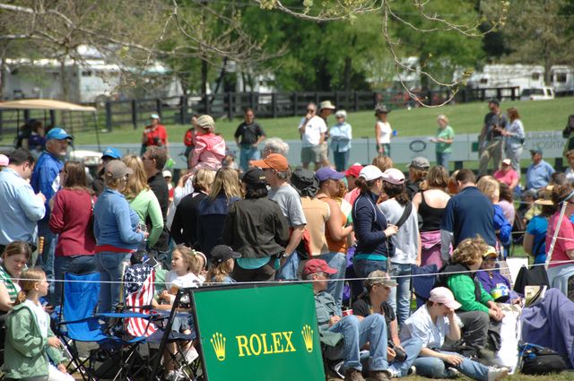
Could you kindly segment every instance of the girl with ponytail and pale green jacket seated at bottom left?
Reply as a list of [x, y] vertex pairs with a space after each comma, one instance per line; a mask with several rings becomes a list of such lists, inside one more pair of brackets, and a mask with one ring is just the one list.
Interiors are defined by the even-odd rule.
[[74, 381], [74, 377], [67, 374], [65, 359], [58, 351], [62, 343], [52, 333], [50, 317], [39, 302], [48, 294], [46, 274], [37, 268], [23, 271], [20, 287], [22, 290], [6, 320], [4, 376], [6, 379]]

